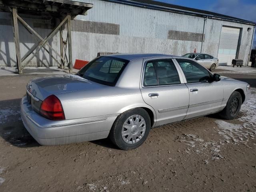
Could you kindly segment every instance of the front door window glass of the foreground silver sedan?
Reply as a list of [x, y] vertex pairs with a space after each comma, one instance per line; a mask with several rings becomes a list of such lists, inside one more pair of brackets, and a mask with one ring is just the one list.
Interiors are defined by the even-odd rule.
[[207, 82], [210, 80], [211, 76], [208, 70], [197, 62], [187, 59], [176, 60], [184, 72], [187, 83]]

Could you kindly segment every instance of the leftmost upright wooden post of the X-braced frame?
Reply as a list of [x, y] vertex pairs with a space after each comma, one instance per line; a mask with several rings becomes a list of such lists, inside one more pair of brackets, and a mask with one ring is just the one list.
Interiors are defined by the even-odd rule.
[[12, 8], [12, 19], [13, 19], [13, 29], [14, 29], [14, 43], [16, 49], [16, 60], [18, 66], [19, 74], [22, 74], [21, 57], [20, 57], [20, 36], [19, 36], [19, 26], [17, 20], [17, 8]]

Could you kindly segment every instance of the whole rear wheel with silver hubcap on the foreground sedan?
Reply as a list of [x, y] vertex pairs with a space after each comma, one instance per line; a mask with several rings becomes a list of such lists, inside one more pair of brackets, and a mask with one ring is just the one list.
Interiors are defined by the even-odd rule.
[[119, 148], [131, 150], [140, 146], [151, 128], [148, 113], [142, 108], [128, 110], [116, 118], [109, 138]]

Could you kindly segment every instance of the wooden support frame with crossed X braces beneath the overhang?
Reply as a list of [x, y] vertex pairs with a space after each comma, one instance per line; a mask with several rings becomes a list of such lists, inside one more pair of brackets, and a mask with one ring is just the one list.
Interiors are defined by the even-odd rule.
[[[17, 66], [19, 74], [22, 74], [22, 70], [27, 66], [27, 64], [36, 56], [36, 54], [44, 48], [46, 52], [60, 65], [60, 68], [64, 69], [64, 64], [67, 63], [69, 72], [72, 73], [73, 65], [72, 65], [72, 41], [71, 41], [71, 17], [70, 15], [67, 15], [59, 24], [56, 26], [46, 38], [42, 38], [33, 28], [31, 28], [20, 16], [17, 14], [16, 8], [10, 8], [10, 11], [12, 13], [13, 18], [13, 28], [14, 28], [14, 42], [15, 42], [15, 48], [16, 48], [16, 59], [17, 59]], [[18, 27], [18, 21], [38, 40], [37, 46], [35, 46], [32, 50], [27, 52], [22, 58], [20, 55], [20, 40], [19, 40], [19, 27]], [[67, 23], [68, 24], [68, 34], [67, 34], [67, 40], [68, 40], [68, 58], [66, 56], [66, 47], [64, 48], [63, 44], [63, 37], [62, 37], [62, 26]], [[60, 32], [60, 54], [52, 48], [48, 44], [48, 41], [50, 38], [52, 38], [57, 32]], [[55, 58], [50, 51], [46, 48], [48, 46], [49, 49], [51, 49], [59, 58], [60, 62]], [[63, 50], [65, 52], [65, 58], [63, 58]], [[24, 60], [28, 58], [28, 56], [32, 56], [23, 64]]]

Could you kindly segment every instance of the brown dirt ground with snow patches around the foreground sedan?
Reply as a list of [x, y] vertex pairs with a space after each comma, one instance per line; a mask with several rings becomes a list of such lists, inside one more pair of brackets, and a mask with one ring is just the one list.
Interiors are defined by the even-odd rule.
[[154, 128], [131, 151], [108, 139], [40, 146], [19, 107], [26, 83], [38, 75], [1, 76], [0, 191], [256, 191], [256, 69], [216, 73], [252, 85], [236, 120], [206, 116]]

